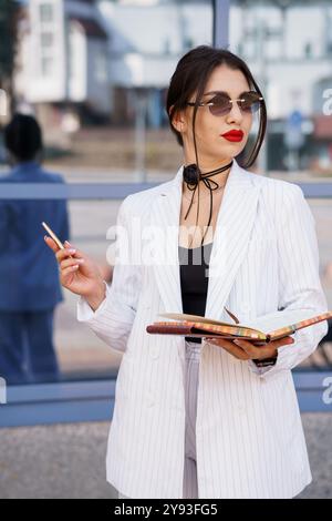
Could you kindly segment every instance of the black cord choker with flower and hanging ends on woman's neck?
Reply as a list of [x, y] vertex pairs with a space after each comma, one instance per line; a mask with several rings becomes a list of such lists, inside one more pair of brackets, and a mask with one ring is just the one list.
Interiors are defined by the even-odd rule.
[[[196, 188], [198, 187], [198, 183], [199, 183], [199, 181], [203, 181], [204, 184], [206, 185], [206, 187], [210, 192], [210, 213], [209, 213], [209, 221], [208, 221], [208, 224], [207, 224], [206, 232], [208, 231], [210, 222], [211, 222], [211, 217], [212, 217], [212, 192], [215, 190], [219, 188], [218, 183], [214, 180], [210, 180], [210, 177], [212, 177], [214, 175], [220, 174], [221, 172], [225, 172], [226, 170], [231, 167], [232, 162], [234, 161], [230, 161], [230, 163], [228, 163], [227, 165], [221, 166], [221, 167], [216, 168], [216, 170], [212, 170], [211, 172], [206, 172], [205, 174], [203, 174], [200, 172], [199, 167], [195, 163], [189, 164], [188, 166], [184, 166], [184, 172], [183, 172], [184, 182], [186, 183], [188, 190], [190, 190], [193, 192], [193, 197], [191, 197], [189, 207], [187, 210], [187, 213], [185, 215], [185, 219], [187, 218], [187, 216], [189, 214], [189, 211], [193, 206], [195, 192], [196, 192]], [[196, 226], [198, 224], [198, 216], [199, 216], [199, 196], [198, 196], [198, 205], [197, 205]], [[203, 243], [204, 243], [205, 235], [206, 235], [206, 233], [203, 236], [200, 245], [203, 245]]]

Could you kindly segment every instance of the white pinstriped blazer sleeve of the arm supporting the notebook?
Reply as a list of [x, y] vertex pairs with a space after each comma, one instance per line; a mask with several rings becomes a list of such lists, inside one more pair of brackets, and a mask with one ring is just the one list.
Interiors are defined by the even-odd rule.
[[[277, 206], [279, 306], [280, 313], [290, 309], [311, 309], [312, 315], [328, 310], [319, 274], [319, 248], [315, 221], [302, 190], [291, 183], [282, 188]], [[328, 321], [314, 324], [294, 333], [294, 343], [278, 349], [274, 366], [258, 368], [249, 360], [251, 371], [270, 378], [288, 371], [309, 357], [328, 333]]]

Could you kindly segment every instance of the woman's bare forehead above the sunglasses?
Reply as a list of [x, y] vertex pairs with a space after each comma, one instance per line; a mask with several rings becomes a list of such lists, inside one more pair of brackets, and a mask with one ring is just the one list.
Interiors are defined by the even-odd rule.
[[219, 65], [208, 79], [204, 93], [222, 91], [231, 96], [237, 96], [249, 89], [250, 86], [242, 71]]

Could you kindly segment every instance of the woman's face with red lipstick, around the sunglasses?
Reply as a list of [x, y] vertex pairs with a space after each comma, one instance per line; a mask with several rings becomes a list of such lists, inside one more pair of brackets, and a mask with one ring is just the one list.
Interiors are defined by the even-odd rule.
[[[201, 101], [212, 100], [216, 92], [225, 92], [230, 99], [239, 99], [243, 92], [250, 91], [249, 84], [243, 73], [239, 70], [229, 69], [227, 65], [217, 67], [211, 73], [203, 95]], [[211, 93], [211, 94], [210, 94]], [[195, 102], [195, 95], [190, 102]], [[179, 123], [179, 132], [184, 140], [184, 151], [186, 157], [196, 162], [194, 139], [193, 139], [193, 114], [194, 106], [188, 106], [178, 115], [176, 123]], [[236, 157], [246, 146], [250, 127], [252, 125], [252, 113], [242, 112], [238, 103], [231, 103], [231, 111], [226, 115], [211, 114], [208, 106], [199, 106], [196, 114], [195, 135], [199, 162], [201, 165], [219, 164], [225, 160]], [[229, 131], [242, 131], [242, 139], [229, 141], [222, 134]], [[230, 137], [231, 139], [231, 137]]]

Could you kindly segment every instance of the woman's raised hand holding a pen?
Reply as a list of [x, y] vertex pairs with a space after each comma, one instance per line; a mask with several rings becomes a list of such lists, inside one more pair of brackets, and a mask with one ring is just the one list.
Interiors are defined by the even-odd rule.
[[51, 237], [45, 236], [44, 241], [55, 254], [61, 285], [85, 297], [90, 306], [96, 309], [105, 298], [105, 284], [97, 265], [68, 241], [64, 243], [65, 249], [61, 249]]

